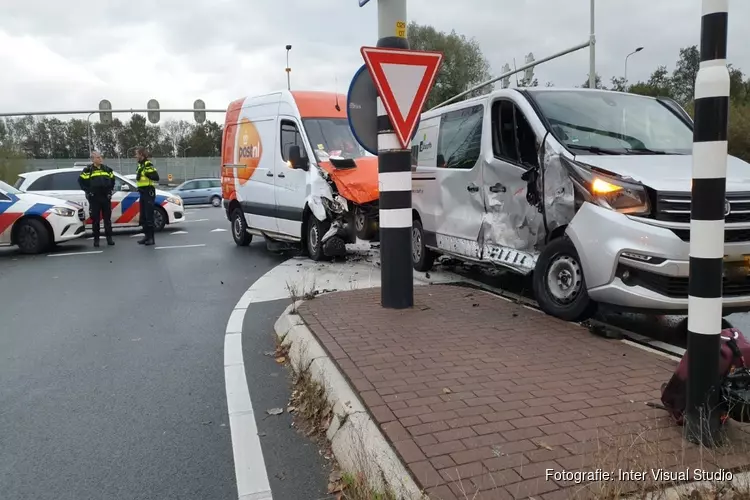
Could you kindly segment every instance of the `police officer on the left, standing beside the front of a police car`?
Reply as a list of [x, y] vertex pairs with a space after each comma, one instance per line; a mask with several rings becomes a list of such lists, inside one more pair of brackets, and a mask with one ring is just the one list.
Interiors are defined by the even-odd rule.
[[89, 200], [94, 246], [99, 246], [99, 222], [104, 219], [104, 235], [107, 245], [114, 245], [112, 239], [112, 193], [115, 190], [115, 174], [112, 169], [102, 164], [102, 155], [98, 151], [91, 153], [91, 164], [86, 166], [78, 177], [86, 199]]

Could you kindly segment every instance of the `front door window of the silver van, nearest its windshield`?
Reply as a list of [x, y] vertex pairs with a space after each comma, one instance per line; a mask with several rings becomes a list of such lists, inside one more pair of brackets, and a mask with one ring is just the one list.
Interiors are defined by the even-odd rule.
[[511, 101], [492, 105], [492, 151], [495, 158], [522, 166], [536, 166], [536, 134], [526, 117]]

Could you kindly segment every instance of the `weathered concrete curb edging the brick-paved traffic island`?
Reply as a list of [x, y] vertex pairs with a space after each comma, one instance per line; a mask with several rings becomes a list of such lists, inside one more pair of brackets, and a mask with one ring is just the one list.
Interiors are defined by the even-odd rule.
[[371, 487], [383, 490], [387, 486], [400, 499], [427, 498], [335, 361], [296, 313], [302, 303], [298, 301], [287, 307], [274, 330], [279, 340], [289, 346], [294, 369], [309, 367], [313, 380], [326, 389], [334, 414], [327, 438], [339, 465], [345, 472], [366, 474], [373, 483]]

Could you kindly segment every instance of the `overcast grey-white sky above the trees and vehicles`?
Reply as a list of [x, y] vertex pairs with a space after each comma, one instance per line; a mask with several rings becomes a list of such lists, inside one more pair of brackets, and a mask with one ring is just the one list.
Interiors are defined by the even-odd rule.
[[[701, 0], [597, 0], [597, 72], [645, 79], [698, 44]], [[408, 20], [474, 37], [492, 65], [522, 64], [586, 41], [589, 0], [408, 0]], [[730, 1], [729, 61], [750, 72], [750, 1]], [[744, 22], [743, 22], [744, 20]], [[286, 87], [338, 90], [377, 41], [377, 0], [0, 0], [0, 112], [114, 108], [225, 108]], [[541, 85], [580, 85], [588, 49], [536, 68]], [[128, 115], [118, 115], [126, 119]], [[185, 115], [182, 115], [185, 117]], [[85, 118], [85, 116], [84, 116]], [[169, 118], [169, 117], [166, 117]], [[223, 121], [221, 115], [210, 119]], [[95, 119], [92, 118], [92, 119]]]

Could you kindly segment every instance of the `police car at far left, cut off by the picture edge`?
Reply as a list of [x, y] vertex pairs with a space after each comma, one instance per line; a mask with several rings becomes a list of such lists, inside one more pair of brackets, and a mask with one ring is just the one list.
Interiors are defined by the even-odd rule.
[[0, 246], [17, 245], [35, 254], [85, 234], [83, 207], [69, 201], [23, 193], [0, 181]]

